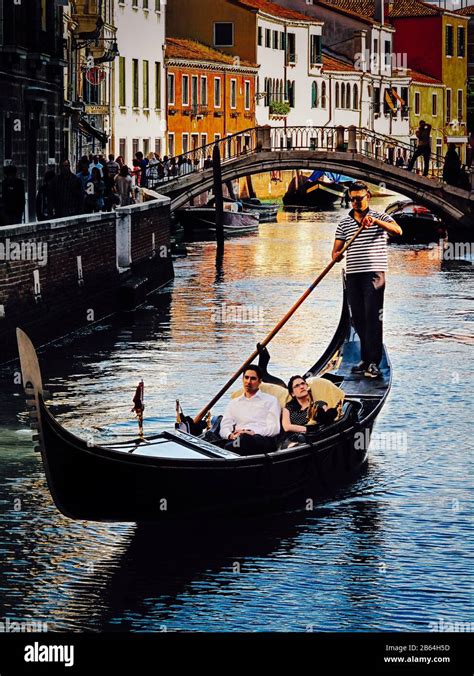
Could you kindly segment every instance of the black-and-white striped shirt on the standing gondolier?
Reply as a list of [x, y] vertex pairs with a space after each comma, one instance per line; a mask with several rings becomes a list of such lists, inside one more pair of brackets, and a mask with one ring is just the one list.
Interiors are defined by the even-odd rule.
[[[355, 220], [353, 214], [354, 211], [351, 210], [340, 221], [336, 228], [336, 239], [347, 242], [347, 240], [355, 235], [360, 227], [360, 223]], [[372, 211], [372, 209], [369, 209], [368, 215], [387, 223], [395, 222], [388, 214], [379, 214], [377, 211]], [[380, 225], [374, 223], [370, 228], [364, 228], [347, 250], [347, 274], [350, 275], [356, 272], [385, 272], [388, 267], [387, 239], [388, 233]]]

